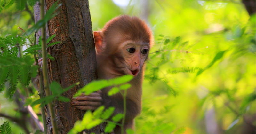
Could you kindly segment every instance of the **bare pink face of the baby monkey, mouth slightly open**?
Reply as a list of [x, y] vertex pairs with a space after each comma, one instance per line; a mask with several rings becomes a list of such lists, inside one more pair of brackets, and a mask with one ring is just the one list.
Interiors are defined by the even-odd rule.
[[123, 56], [126, 63], [125, 73], [137, 76], [145, 59], [148, 56], [149, 45], [145, 43], [135, 43], [126, 41], [121, 44]]

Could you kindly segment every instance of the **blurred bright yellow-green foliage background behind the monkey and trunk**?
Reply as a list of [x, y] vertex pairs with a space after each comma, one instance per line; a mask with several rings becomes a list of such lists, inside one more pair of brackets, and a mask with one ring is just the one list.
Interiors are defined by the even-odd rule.
[[[242, 1], [89, 0], [89, 6], [93, 30], [127, 14], [154, 33], [135, 133], [255, 134], [256, 17]], [[0, 13], [1, 37], [34, 24], [33, 7], [26, 10], [12, 5]], [[1, 112], [19, 116], [2, 94], [0, 102]]]

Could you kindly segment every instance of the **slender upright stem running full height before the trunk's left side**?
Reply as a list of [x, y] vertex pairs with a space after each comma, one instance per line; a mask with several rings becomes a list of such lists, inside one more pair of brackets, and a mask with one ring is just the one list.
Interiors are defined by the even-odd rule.
[[[40, 0], [40, 16], [41, 16], [41, 19], [44, 18], [44, 0]], [[42, 27], [42, 55], [43, 55], [42, 69], [43, 69], [43, 79], [44, 79], [44, 90], [45, 90], [46, 96], [49, 96], [51, 95], [51, 92], [50, 92], [50, 86], [49, 86], [48, 76], [47, 76], [47, 51], [46, 51], [45, 25]], [[48, 106], [49, 106], [50, 115], [51, 115], [53, 133], [59, 134], [52, 102], [48, 103]]]

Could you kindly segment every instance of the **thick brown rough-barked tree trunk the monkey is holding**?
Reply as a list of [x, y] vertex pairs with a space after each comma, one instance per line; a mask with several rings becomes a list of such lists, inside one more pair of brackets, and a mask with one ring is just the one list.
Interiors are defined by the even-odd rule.
[[[49, 9], [56, 0], [45, 0], [45, 11]], [[56, 81], [63, 88], [80, 82], [78, 86], [68, 90], [63, 96], [72, 98], [78, 89], [95, 80], [96, 57], [95, 46], [92, 35], [91, 16], [88, 0], [59, 0], [62, 6], [56, 11], [58, 13], [49, 20], [46, 28], [47, 37], [56, 34], [52, 40], [61, 41], [48, 48], [48, 54], [55, 60], [48, 61], [48, 76], [50, 83]], [[35, 21], [40, 19], [39, 4], [34, 7]], [[40, 31], [38, 34], [40, 35]], [[52, 89], [54, 90], [54, 89]], [[84, 111], [78, 110], [71, 102], [53, 102], [60, 134], [68, 133], [77, 120], [81, 120]], [[49, 109], [45, 106], [47, 133], [52, 133], [52, 124]], [[104, 133], [104, 124], [97, 126], [86, 133]]]

